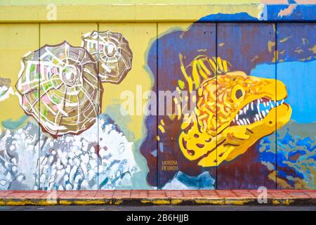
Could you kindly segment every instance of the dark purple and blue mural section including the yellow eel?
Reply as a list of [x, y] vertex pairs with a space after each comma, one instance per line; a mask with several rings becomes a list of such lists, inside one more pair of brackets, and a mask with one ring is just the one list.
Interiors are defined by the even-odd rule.
[[307, 128], [316, 121], [309, 97], [315, 88], [308, 85], [315, 79], [309, 73], [315, 25], [295, 29], [293, 34], [289, 25], [198, 21], [159, 34], [147, 54], [152, 91], [174, 96], [168, 112], [169, 103], [158, 95], [159, 114], [145, 119], [140, 152], [148, 184], [315, 186], [316, 135]]

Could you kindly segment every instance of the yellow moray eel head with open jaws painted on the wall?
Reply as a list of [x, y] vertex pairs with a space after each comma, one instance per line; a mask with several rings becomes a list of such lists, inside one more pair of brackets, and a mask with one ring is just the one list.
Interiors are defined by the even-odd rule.
[[[169, 117], [182, 121], [178, 143], [183, 155], [202, 167], [235, 159], [291, 117], [291, 107], [284, 103], [287, 89], [282, 82], [230, 71], [229, 65], [226, 60], [208, 56], [197, 56], [185, 68], [181, 63], [183, 80], [176, 89], [180, 94], [197, 91], [193, 100], [196, 106], [181, 117]], [[173, 100], [177, 105], [176, 97]], [[168, 125], [173, 123], [161, 122], [159, 128], [165, 130], [163, 127]]]

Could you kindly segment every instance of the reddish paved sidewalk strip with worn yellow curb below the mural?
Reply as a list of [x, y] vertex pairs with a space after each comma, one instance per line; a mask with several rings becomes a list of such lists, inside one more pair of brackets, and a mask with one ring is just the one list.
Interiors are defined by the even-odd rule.
[[[259, 197], [258, 197], [259, 196]], [[268, 205], [316, 205], [316, 190], [268, 190]], [[257, 190], [0, 191], [0, 205], [261, 205]]]

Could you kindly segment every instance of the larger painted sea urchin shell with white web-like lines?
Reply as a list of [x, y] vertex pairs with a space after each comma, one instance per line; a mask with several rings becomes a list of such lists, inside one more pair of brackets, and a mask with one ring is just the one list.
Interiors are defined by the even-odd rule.
[[82, 47], [64, 41], [22, 58], [16, 88], [20, 105], [52, 136], [79, 134], [100, 113], [96, 63]]

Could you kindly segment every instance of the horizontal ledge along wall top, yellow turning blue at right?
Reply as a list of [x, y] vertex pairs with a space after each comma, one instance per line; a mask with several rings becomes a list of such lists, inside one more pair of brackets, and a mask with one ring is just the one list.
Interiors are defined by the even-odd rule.
[[0, 5], [0, 23], [315, 20], [316, 4]]

